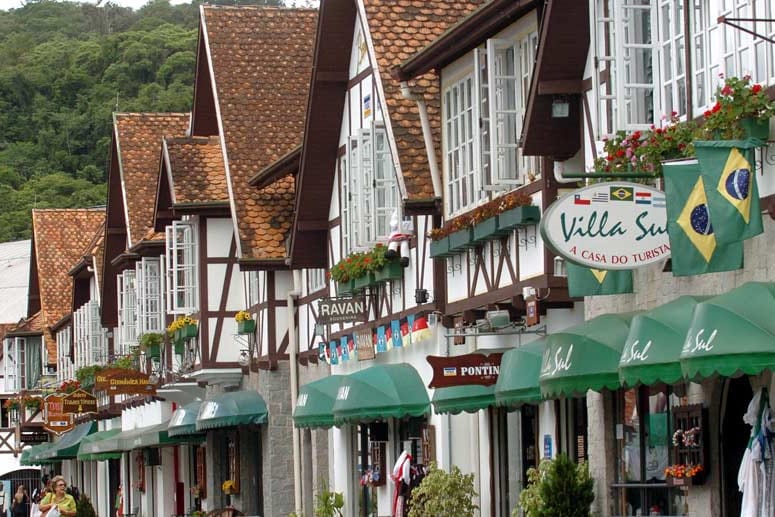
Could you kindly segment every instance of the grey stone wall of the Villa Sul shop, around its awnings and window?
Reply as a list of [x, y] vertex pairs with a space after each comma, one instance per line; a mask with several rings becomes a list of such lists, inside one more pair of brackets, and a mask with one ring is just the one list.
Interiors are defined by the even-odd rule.
[[[764, 216], [764, 233], [744, 243], [745, 266], [738, 271], [710, 273], [691, 277], [674, 277], [663, 272], [662, 265], [634, 271], [634, 294], [595, 296], [585, 299], [586, 319], [601, 314], [649, 310], [683, 295], [717, 295], [751, 281], [775, 281], [775, 222]], [[711, 461], [719, 457], [719, 424], [721, 380], [702, 384], [689, 383], [687, 402], [705, 404], [711, 426]], [[596, 501], [593, 510], [599, 515], [611, 515], [611, 493], [614, 482], [615, 437], [613, 436], [613, 406], [611, 395], [590, 392], [587, 395], [589, 417], [590, 470], [596, 479]], [[601, 427], [603, 426], [603, 427]], [[687, 497], [689, 515], [719, 515], [720, 488], [718, 468], [711, 468], [709, 478], [701, 487], [693, 487]]]

